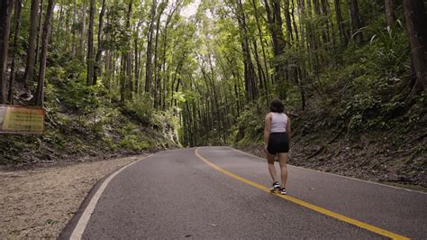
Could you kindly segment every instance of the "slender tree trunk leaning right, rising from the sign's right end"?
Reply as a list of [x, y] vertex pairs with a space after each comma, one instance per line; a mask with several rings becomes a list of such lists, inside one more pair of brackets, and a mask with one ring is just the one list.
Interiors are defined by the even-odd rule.
[[48, 9], [46, 12], [46, 20], [43, 24], [43, 37], [41, 42], [41, 60], [40, 60], [40, 71], [39, 71], [39, 82], [37, 84], [37, 93], [35, 98], [36, 106], [43, 106], [43, 88], [44, 88], [44, 76], [46, 72], [46, 59], [48, 56], [48, 44], [50, 36], [50, 26], [52, 23], [53, 8], [55, 7], [55, 1], [49, 0]]

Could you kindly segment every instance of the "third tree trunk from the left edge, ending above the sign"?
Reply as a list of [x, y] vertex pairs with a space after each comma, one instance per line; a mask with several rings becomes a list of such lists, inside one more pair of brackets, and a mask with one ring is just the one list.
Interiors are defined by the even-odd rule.
[[28, 84], [32, 80], [32, 74], [34, 72], [34, 59], [36, 51], [36, 38], [37, 38], [37, 19], [39, 14], [40, 0], [32, 0], [32, 9], [30, 14], [30, 36], [28, 38], [28, 49], [27, 49], [27, 64], [25, 65], [25, 74], [23, 77], [23, 83], [25, 88], [28, 90]]

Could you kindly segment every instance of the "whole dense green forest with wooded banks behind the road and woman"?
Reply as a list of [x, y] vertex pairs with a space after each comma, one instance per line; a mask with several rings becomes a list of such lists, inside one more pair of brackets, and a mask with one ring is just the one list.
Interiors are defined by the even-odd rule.
[[0, 160], [256, 149], [279, 97], [291, 163], [427, 186], [425, 5], [3, 0], [0, 104], [43, 107], [46, 129], [0, 135]]

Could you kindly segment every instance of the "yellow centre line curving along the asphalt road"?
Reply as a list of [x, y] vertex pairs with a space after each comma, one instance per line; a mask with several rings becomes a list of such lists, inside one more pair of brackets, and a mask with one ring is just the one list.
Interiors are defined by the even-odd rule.
[[[270, 189], [268, 189], [266, 186], [263, 186], [263, 185], [261, 185], [261, 184], [259, 184], [257, 182], [251, 181], [251, 180], [247, 180], [247, 179], [245, 179], [245, 178], [243, 178], [243, 177], [241, 177], [241, 176], [239, 176], [237, 174], [232, 173], [231, 171], [226, 171], [223, 168], [219, 167], [218, 165], [214, 164], [213, 162], [207, 160], [202, 155], [200, 155], [200, 153], [198, 152], [198, 150], [199, 150], [199, 148], [195, 149], [195, 155], [199, 159], [201, 159], [203, 162], [205, 162], [206, 164], [208, 164], [209, 166], [211, 166], [213, 169], [215, 169], [216, 171], [221, 171], [224, 174], [232, 177], [233, 179], [241, 180], [242, 182], [247, 183], [247, 184], [249, 184], [252, 187], [255, 187], [257, 189], [261, 189], [261, 190], [263, 190], [265, 192], [268, 192], [268, 193], [272, 194], [270, 192]], [[354, 226], [359, 226], [359, 227], [364, 228], [364, 229], [366, 229], [368, 231], [374, 232], [374, 233], [376, 233], [378, 235], [384, 235], [384, 236], [392, 238], [392, 239], [410, 239], [410, 238], [408, 238], [408, 237], [406, 237], [404, 235], [398, 235], [398, 234], [392, 233], [390, 231], [387, 231], [385, 229], [379, 228], [377, 226], [372, 226], [372, 225], [369, 225], [367, 223], [361, 222], [359, 220], [343, 216], [343, 215], [341, 215], [339, 213], [332, 212], [331, 210], [328, 210], [326, 208], [317, 207], [317, 206], [315, 206], [315, 205], [313, 205], [311, 203], [304, 202], [303, 200], [300, 200], [298, 198], [294, 198], [294, 197], [291, 197], [291, 196], [288, 196], [288, 195], [281, 195], [281, 194], [278, 194], [278, 193], [274, 193], [274, 195], [276, 195], [279, 198], [284, 198], [284, 199], [286, 199], [288, 201], [291, 201], [291, 202], [293, 202], [295, 204], [298, 204], [300, 206], [303, 206], [305, 208], [310, 208], [310, 209], [312, 209], [312, 210], [314, 210], [316, 212], [319, 212], [319, 213], [321, 213], [323, 215], [339, 219], [339, 220], [341, 220], [343, 222], [349, 223], [349, 224], [354, 225]]]

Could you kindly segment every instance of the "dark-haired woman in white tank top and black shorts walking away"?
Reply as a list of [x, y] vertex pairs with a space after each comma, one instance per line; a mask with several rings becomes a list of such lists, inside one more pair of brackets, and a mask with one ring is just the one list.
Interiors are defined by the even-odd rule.
[[[287, 168], [286, 161], [289, 152], [289, 140], [291, 136], [291, 120], [284, 114], [285, 106], [280, 99], [274, 99], [270, 103], [270, 113], [266, 115], [264, 128], [264, 142], [267, 145], [268, 171], [273, 179], [271, 190], [278, 190], [286, 195]], [[274, 159], [278, 155], [280, 165], [280, 184], [277, 181]]]

